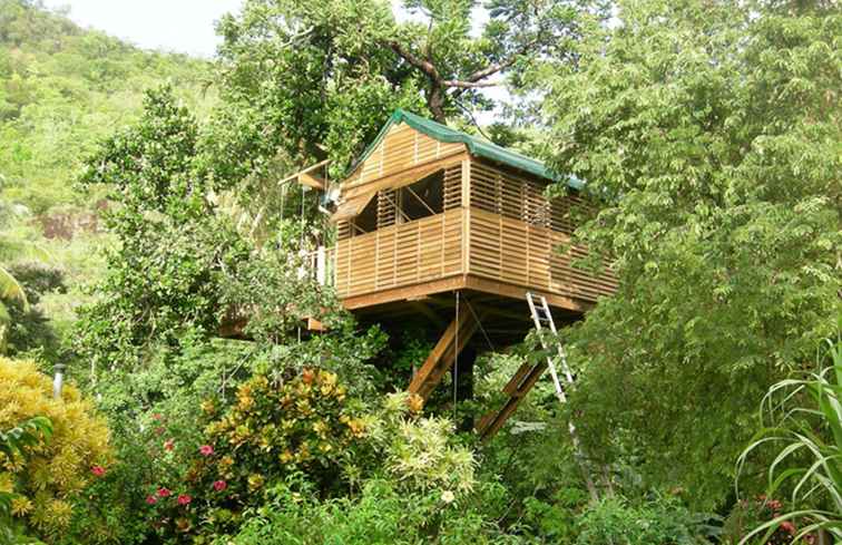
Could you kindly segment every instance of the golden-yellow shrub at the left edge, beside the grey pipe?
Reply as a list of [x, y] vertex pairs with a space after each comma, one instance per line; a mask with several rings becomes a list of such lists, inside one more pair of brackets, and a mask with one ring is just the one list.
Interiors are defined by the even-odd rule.
[[52, 437], [26, 447], [26, 461], [0, 454], [0, 492], [17, 493], [12, 515], [51, 541], [70, 525], [75, 497], [107, 474], [109, 434], [76, 388], [66, 386], [56, 400], [33, 362], [0, 358], [0, 429], [35, 416], [49, 418]]

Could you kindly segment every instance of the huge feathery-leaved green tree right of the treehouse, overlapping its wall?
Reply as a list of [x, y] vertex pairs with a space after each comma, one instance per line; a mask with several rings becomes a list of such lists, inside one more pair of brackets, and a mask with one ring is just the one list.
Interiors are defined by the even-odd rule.
[[599, 205], [584, 265], [620, 284], [568, 337], [581, 435], [704, 508], [841, 288], [842, 16], [786, 6], [620, 1], [582, 22], [575, 66], [530, 74], [547, 158]]

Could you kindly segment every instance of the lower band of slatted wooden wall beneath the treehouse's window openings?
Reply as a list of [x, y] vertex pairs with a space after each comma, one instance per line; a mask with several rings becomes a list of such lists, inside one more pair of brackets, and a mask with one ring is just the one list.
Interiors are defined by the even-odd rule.
[[[574, 266], [575, 259], [586, 255], [585, 249], [556, 251], [568, 242], [568, 235], [548, 227], [479, 208], [453, 208], [339, 241], [335, 288], [347, 300], [469, 276], [584, 303], [611, 294], [616, 284], [610, 274], [595, 278]], [[394, 293], [399, 298], [401, 292]], [[378, 302], [391, 300], [396, 299]]]

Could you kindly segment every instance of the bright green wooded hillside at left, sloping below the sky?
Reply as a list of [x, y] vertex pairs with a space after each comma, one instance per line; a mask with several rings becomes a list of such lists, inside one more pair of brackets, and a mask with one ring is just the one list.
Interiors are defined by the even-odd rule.
[[66, 290], [38, 311], [59, 330], [98, 278], [107, 243], [99, 198], [74, 186], [84, 158], [164, 82], [204, 116], [215, 100], [209, 66], [82, 29], [37, 0], [0, 0], [0, 265], [35, 259], [58, 272]]

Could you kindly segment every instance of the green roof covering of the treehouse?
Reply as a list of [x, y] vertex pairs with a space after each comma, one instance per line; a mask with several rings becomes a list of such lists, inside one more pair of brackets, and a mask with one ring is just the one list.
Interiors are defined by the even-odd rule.
[[[374, 149], [378, 147], [378, 145], [380, 145], [380, 143], [383, 140], [386, 133], [389, 133], [389, 129], [392, 128], [393, 125], [399, 125], [401, 123], [405, 123], [419, 133], [423, 133], [430, 138], [437, 139], [439, 142], [464, 144], [466, 146], [468, 146], [468, 150], [471, 153], [471, 155], [496, 160], [498, 163], [502, 163], [503, 165], [508, 165], [520, 171], [526, 171], [530, 174], [535, 174], [536, 176], [552, 182], [558, 182], [560, 179], [558, 176], [550, 173], [550, 171], [544, 165], [544, 163], [539, 160], [532, 159], [511, 149], [507, 149], [502, 146], [498, 146], [497, 144], [492, 144], [482, 138], [471, 136], [467, 133], [454, 130], [447, 125], [435, 123], [432, 119], [427, 119], [425, 117], [421, 117], [402, 109], [398, 109], [394, 111], [394, 114], [392, 114], [392, 116], [389, 118], [389, 121], [385, 124], [385, 126], [383, 126], [382, 129], [380, 129], [380, 133], [378, 134], [378, 137], [374, 139], [374, 142], [372, 142], [368, 148], [365, 148], [365, 152], [363, 152], [360, 159], [354, 164], [354, 167], [351, 169], [351, 172], [355, 171], [356, 167], [362, 162], [364, 162], [372, 152], [374, 152]], [[572, 187], [574, 189], [581, 189], [585, 186], [585, 184], [580, 179], [577, 179], [575, 177], [568, 177], [567, 185]]]

